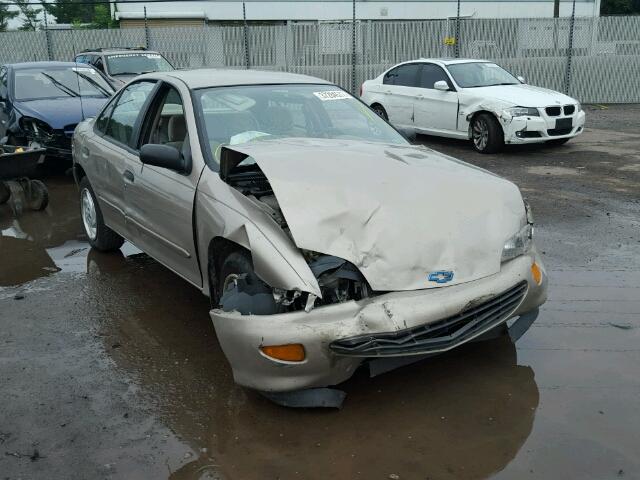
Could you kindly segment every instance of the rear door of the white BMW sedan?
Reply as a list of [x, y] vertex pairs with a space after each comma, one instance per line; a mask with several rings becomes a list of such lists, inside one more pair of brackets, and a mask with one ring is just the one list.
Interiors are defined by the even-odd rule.
[[406, 63], [388, 71], [381, 86], [384, 94], [384, 108], [389, 122], [397, 127], [413, 126], [413, 104], [419, 93], [419, 63]]

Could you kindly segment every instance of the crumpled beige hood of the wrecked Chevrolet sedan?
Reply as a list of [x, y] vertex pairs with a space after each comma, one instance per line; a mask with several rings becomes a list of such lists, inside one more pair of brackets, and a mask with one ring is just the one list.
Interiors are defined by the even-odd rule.
[[497, 273], [525, 215], [511, 182], [427, 148], [284, 139], [234, 145], [267, 176], [299, 248], [353, 263], [374, 290]]

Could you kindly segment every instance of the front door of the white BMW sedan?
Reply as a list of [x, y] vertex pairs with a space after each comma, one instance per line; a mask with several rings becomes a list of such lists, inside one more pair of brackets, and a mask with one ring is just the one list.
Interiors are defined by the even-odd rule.
[[[415, 127], [429, 131], [456, 131], [458, 92], [442, 67], [424, 63], [420, 71], [419, 93], [415, 102]], [[447, 82], [449, 91], [436, 90], [434, 84]]]

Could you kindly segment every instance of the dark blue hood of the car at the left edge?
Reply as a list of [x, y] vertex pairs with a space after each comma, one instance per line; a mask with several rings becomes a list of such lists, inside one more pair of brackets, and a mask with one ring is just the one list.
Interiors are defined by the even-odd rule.
[[18, 101], [14, 103], [14, 107], [23, 116], [42, 120], [57, 130], [94, 117], [107, 100], [109, 99], [82, 97], [81, 108], [79, 97], [47, 98]]

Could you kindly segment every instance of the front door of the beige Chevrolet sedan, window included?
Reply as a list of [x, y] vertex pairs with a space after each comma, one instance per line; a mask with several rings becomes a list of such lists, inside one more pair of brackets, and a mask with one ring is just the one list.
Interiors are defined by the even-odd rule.
[[[162, 83], [140, 129], [140, 146], [169, 145], [191, 157], [193, 109], [186, 86]], [[189, 127], [191, 125], [191, 127]], [[198, 148], [197, 143], [194, 148]], [[127, 228], [131, 241], [147, 254], [200, 287], [193, 229], [193, 205], [202, 165], [188, 173], [143, 165], [137, 156], [126, 159]]]

